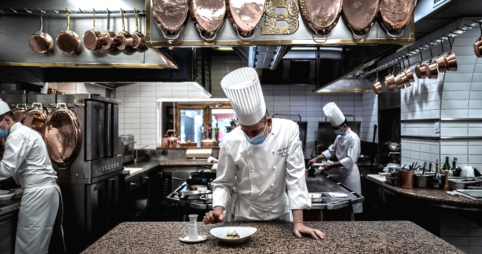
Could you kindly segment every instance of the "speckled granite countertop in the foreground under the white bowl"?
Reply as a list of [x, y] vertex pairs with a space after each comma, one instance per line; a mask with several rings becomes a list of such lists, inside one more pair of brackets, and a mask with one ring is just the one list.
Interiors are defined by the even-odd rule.
[[[324, 240], [298, 239], [291, 222], [229, 222], [205, 225], [205, 242], [185, 244], [189, 222], [124, 222], [83, 253], [463, 253], [436, 235], [408, 221], [305, 222], [320, 229]], [[214, 227], [258, 229], [240, 245], [225, 245], [209, 233]]]

